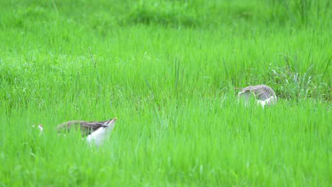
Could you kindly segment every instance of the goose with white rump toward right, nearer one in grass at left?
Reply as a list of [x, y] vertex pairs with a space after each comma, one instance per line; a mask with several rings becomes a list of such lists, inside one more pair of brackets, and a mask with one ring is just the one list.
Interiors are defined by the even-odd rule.
[[[72, 120], [61, 123], [56, 126], [56, 130], [59, 134], [69, 132], [71, 129], [80, 130], [83, 138], [86, 137], [86, 141], [89, 144], [95, 143], [99, 146], [105, 138], [110, 134], [115, 127], [116, 118], [105, 121], [83, 121]], [[34, 125], [33, 125], [34, 127]], [[43, 125], [38, 125], [39, 130], [43, 131]]]

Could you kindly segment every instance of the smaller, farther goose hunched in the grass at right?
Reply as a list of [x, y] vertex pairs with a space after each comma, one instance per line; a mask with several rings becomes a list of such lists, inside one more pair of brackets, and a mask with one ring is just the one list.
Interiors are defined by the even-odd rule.
[[241, 89], [238, 93], [238, 98], [244, 98], [245, 104], [249, 102], [249, 98], [253, 95], [257, 100], [257, 104], [262, 105], [264, 108], [265, 105], [272, 105], [277, 102], [277, 96], [274, 90], [267, 85], [249, 85]]

